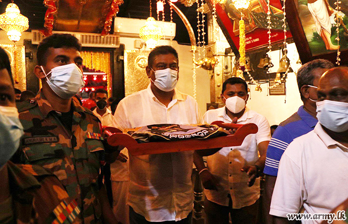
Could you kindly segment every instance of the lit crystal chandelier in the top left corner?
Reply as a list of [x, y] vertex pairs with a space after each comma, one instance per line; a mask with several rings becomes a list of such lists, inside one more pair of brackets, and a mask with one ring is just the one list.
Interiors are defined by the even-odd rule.
[[5, 13], [0, 14], [0, 28], [7, 31], [8, 39], [16, 42], [21, 37], [21, 32], [29, 28], [29, 20], [24, 15], [20, 14], [18, 6], [9, 3], [6, 6]]

